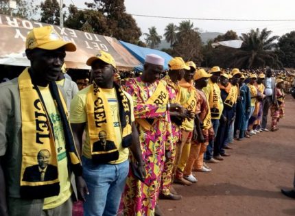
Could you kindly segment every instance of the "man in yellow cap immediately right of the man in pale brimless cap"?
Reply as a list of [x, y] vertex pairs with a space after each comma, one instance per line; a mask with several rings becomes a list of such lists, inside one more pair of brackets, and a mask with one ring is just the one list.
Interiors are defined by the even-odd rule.
[[[163, 81], [167, 82], [167, 87], [169, 88], [169, 95], [172, 99], [171, 103], [180, 103], [180, 88], [178, 81], [180, 81], [185, 74], [185, 69], [189, 67], [185, 65], [185, 62], [180, 57], [172, 58], [169, 61], [169, 71], [168, 74], [163, 78]], [[166, 158], [165, 165], [161, 178], [161, 191], [159, 198], [165, 200], [180, 200], [181, 196], [172, 193], [171, 183], [173, 178], [173, 170], [176, 156], [176, 147], [180, 141], [180, 125], [185, 119], [185, 115], [181, 115], [179, 112], [169, 112], [172, 122], [172, 150], [171, 156]], [[173, 190], [173, 189], [172, 189]]]

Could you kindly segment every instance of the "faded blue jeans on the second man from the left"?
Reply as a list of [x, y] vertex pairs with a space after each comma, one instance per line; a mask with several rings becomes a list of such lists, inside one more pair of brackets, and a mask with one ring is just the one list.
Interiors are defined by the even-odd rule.
[[129, 171], [129, 160], [111, 165], [92, 163], [82, 157], [83, 178], [89, 195], [84, 202], [84, 216], [116, 216]]

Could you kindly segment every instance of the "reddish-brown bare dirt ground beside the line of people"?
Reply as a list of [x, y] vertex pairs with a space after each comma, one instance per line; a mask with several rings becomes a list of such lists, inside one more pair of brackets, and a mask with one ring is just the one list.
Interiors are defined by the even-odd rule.
[[293, 187], [295, 100], [291, 97], [286, 99], [279, 128], [234, 141], [234, 149], [227, 150], [230, 157], [209, 164], [210, 173], [196, 173], [198, 183], [174, 184], [182, 200], [160, 200], [165, 216], [295, 215], [295, 200], [280, 192]]

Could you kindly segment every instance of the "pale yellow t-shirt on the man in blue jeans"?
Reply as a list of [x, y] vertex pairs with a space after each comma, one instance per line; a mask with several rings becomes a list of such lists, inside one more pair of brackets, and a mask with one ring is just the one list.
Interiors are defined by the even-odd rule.
[[[78, 92], [75, 97], [73, 97], [71, 101], [71, 123], [84, 123], [87, 122], [87, 114], [86, 114], [86, 99], [87, 99], [87, 93], [89, 91], [89, 87], [84, 88], [82, 91]], [[115, 128], [115, 136], [117, 139], [117, 143], [120, 143], [119, 146], [117, 146], [117, 149], [119, 151], [119, 158], [118, 160], [111, 161], [109, 163], [111, 164], [119, 164], [124, 162], [125, 160], [128, 160], [129, 156], [129, 149], [126, 147], [122, 147], [122, 134], [121, 134], [121, 127], [120, 127], [120, 121], [119, 121], [119, 106], [117, 101], [117, 95], [115, 93], [115, 88], [107, 89], [102, 88], [102, 92], [106, 96], [106, 99], [108, 99], [108, 104], [110, 106], [110, 110], [113, 111], [113, 124]], [[133, 114], [133, 101], [131, 95], [126, 93], [124, 91], [126, 97], [130, 100], [130, 106], [131, 106], [131, 121], [134, 121], [134, 114]], [[91, 159], [91, 147], [90, 147], [90, 138], [88, 133], [88, 124], [86, 123], [86, 139], [83, 143], [82, 147], [82, 155], [86, 158]]]

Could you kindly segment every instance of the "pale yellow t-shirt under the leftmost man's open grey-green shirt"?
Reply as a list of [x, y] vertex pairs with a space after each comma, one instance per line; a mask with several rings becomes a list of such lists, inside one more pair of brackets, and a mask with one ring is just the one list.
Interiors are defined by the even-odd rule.
[[58, 180], [60, 180], [60, 194], [54, 197], [45, 198], [43, 209], [49, 209], [56, 208], [57, 206], [60, 206], [61, 204], [66, 202], [71, 196], [72, 189], [68, 171], [67, 152], [64, 145], [65, 141], [62, 119], [60, 118], [58, 108], [54, 103], [54, 99], [51, 96], [49, 87], [38, 86], [38, 88], [40, 89], [40, 93], [46, 104], [49, 118], [51, 119], [51, 122], [53, 124], [56, 152], [58, 154]]

